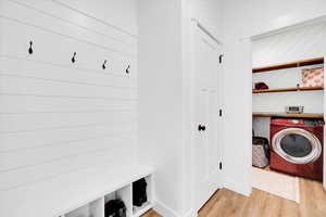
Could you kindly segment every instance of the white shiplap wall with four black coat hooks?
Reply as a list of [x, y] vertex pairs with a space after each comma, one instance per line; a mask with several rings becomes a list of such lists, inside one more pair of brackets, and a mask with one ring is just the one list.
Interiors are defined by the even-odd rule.
[[0, 0], [0, 194], [133, 161], [136, 21], [136, 0]]

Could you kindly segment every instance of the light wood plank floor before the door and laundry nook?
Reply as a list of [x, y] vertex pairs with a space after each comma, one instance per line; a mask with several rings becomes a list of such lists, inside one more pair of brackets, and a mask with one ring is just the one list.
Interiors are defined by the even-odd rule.
[[[300, 179], [300, 204], [253, 189], [247, 197], [222, 189], [200, 210], [199, 217], [326, 217], [322, 183]], [[142, 217], [161, 217], [154, 210]]]

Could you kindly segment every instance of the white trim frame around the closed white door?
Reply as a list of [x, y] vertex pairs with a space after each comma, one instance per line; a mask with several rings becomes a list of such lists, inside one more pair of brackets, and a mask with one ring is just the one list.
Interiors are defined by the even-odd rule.
[[[211, 38], [213, 41], [215, 41], [220, 47], [221, 47], [221, 54], [223, 55], [224, 53], [224, 48], [223, 48], [223, 42], [222, 40], [217, 39], [217, 37], [214, 36], [214, 34], [212, 34], [212, 31], [210, 31], [202, 23], [200, 23], [199, 20], [197, 18], [191, 18], [191, 24], [190, 24], [190, 56], [189, 56], [189, 61], [190, 61], [190, 74], [191, 74], [191, 117], [190, 117], [190, 123], [191, 123], [191, 203], [192, 203], [192, 208], [193, 208], [193, 213], [196, 214], [197, 216], [197, 212], [196, 210], [196, 199], [195, 199], [195, 195], [196, 195], [196, 182], [195, 182], [195, 176], [196, 176], [196, 171], [195, 171], [195, 145], [196, 145], [196, 127], [198, 125], [198, 123], [196, 122], [196, 115], [195, 115], [195, 112], [193, 112], [193, 108], [195, 108], [195, 98], [196, 98], [196, 94], [195, 94], [195, 82], [193, 82], [193, 79], [195, 79], [195, 67], [193, 67], [193, 53], [195, 53], [195, 39], [196, 39], [196, 35], [198, 31], [201, 31], [203, 34], [205, 34], [206, 36], [209, 36], [209, 38]], [[218, 56], [218, 55], [217, 55]], [[216, 60], [218, 61], [218, 59]], [[218, 64], [218, 62], [217, 62]], [[220, 64], [220, 73], [218, 73], [218, 76], [217, 76], [217, 80], [218, 80], [218, 87], [217, 87], [217, 92], [218, 92], [218, 107], [216, 107], [216, 115], [218, 115], [218, 110], [222, 110], [224, 112], [224, 68], [223, 68], [223, 64]], [[216, 161], [216, 165], [218, 164], [218, 161], [222, 163], [223, 162], [223, 158], [224, 158], [224, 118], [223, 118], [224, 115], [222, 115], [222, 117], [218, 117], [218, 123], [217, 123], [217, 129], [221, 129], [221, 133], [220, 136], [217, 137], [217, 143], [218, 143], [218, 159]], [[216, 186], [216, 190], [217, 189], [221, 189], [223, 188], [224, 186], [224, 173], [223, 173], [223, 169], [220, 170], [220, 180], [217, 182], [217, 186]], [[208, 199], [209, 201], [210, 199]]]

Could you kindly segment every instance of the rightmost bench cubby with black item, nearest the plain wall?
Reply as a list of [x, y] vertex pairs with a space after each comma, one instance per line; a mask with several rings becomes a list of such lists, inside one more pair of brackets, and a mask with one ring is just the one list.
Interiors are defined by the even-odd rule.
[[[147, 202], [143, 203], [141, 206], [135, 206], [133, 204], [133, 213], [135, 217], [139, 217], [146, 212], [148, 212], [150, 208], [153, 207], [153, 178], [152, 175], [149, 175], [145, 177], [145, 180], [147, 182], [147, 188], [146, 188], [146, 194], [147, 194]], [[133, 192], [135, 190], [133, 189]]]

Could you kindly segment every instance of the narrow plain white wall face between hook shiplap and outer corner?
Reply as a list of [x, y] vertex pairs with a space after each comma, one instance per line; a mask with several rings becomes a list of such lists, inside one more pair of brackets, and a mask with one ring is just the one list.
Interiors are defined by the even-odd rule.
[[181, 2], [140, 0], [139, 159], [155, 166], [155, 195], [179, 215], [181, 197]]

